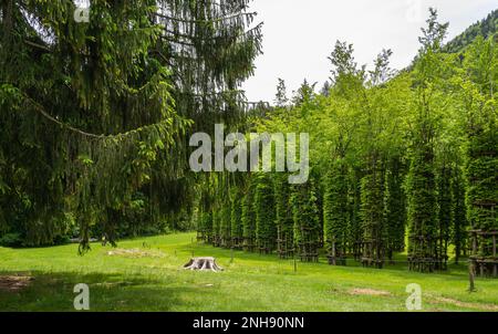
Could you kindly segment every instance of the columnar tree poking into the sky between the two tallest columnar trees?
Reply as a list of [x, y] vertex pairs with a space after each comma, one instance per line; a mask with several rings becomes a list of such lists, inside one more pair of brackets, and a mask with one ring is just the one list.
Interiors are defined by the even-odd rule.
[[[363, 90], [364, 109], [361, 155], [365, 176], [361, 181], [361, 217], [363, 227], [364, 265], [382, 268], [386, 255], [390, 231], [384, 216], [385, 170], [388, 152], [396, 135], [397, 105], [393, 83], [386, 83], [393, 71], [390, 69], [391, 50], [383, 50], [374, 61], [366, 88]], [[396, 82], [395, 82], [396, 83]], [[394, 102], [393, 102], [393, 101]]]

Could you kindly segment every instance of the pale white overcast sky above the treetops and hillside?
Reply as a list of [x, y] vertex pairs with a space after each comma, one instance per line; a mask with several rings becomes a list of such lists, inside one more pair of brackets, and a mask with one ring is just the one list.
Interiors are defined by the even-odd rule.
[[336, 40], [352, 43], [359, 65], [371, 65], [391, 49], [391, 66], [403, 69], [416, 55], [428, 8], [449, 22], [448, 40], [498, 8], [496, 0], [253, 0], [250, 10], [263, 22], [263, 54], [255, 76], [242, 86], [248, 101], [274, 100], [277, 80], [288, 95], [307, 79], [318, 90], [330, 77], [328, 56]]

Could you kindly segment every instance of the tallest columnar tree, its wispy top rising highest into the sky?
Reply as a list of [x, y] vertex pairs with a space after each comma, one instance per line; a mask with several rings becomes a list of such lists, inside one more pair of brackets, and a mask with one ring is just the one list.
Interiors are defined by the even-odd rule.
[[409, 269], [422, 272], [432, 272], [439, 255], [434, 146], [444, 96], [435, 86], [443, 66], [440, 46], [448, 27], [437, 22], [434, 9], [430, 9], [427, 23], [428, 28], [423, 29], [423, 36], [419, 38], [422, 49], [414, 69], [416, 88], [406, 188]]

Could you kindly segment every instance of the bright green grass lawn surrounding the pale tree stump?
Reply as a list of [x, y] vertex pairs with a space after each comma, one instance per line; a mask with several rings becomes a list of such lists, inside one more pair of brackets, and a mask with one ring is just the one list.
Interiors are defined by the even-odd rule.
[[[83, 257], [76, 244], [0, 248], [0, 311], [74, 311], [77, 283], [90, 286], [91, 311], [406, 311], [409, 283], [422, 286], [424, 311], [498, 311], [498, 280], [477, 279], [469, 293], [465, 263], [421, 274], [405, 264], [377, 270], [322, 260], [298, 262], [294, 272], [293, 261], [276, 255], [236, 251], [231, 261], [230, 250], [194, 237], [126, 240], [117, 249], [94, 243]], [[123, 252], [131, 249], [139, 251]], [[225, 271], [181, 270], [193, 253], [217, 258]], [[6, 283], [12, 276], [33, 279], [13, 286]]]

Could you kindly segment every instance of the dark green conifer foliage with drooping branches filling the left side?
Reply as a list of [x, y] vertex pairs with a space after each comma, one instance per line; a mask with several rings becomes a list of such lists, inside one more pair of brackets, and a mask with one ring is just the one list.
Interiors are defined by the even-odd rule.
[[76, 22], [73, 1], [2, 1], [0, 240], [85, 250], [191, 228], [186, 138], [241, 118], [261, 41], [248, 3], [94, 0]]

